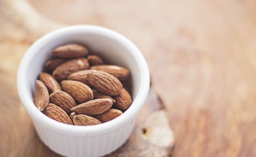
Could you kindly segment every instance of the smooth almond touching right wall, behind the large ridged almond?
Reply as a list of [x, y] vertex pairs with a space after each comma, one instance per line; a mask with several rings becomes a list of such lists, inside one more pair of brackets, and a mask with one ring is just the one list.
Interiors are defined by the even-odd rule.
[[106, 73], [117, 77], [117, 79], [120, 81], [126, 80], [129, 75], [128, 69], [117, 65], [95, 65], [91, 66], [91, 69], [105, 71]]

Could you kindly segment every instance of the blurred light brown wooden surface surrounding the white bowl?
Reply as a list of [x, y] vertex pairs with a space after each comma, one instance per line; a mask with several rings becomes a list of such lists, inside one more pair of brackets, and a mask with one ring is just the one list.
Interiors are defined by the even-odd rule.
[[18, 100], [16, 73], [34, 40], [70, 24], [108, 27], [139, 47], [174, 157], [256, 156], [255, 0], [0, 0], [0, 9], [3, 156], [49, 151]]

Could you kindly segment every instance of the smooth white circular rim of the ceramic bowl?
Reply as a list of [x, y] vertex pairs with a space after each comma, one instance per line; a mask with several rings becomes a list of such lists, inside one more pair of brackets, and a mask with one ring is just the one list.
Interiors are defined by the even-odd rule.
[[[47, 117], [46, 115], [41, 113], [41, 111], [39, 111], [37, 107], [31, 107], [35, 105], [34, 105], [34, 102], [30, 99], [30, 95], [28, 92], [29, 86], [26, 83], [26, 80], [27, 80], [26, 74], [28, 73], [27, 71], [29, 66], [27, 62], [32, 60], [34, 56], [32, 54], [36, 53], [34, 52], [34, 49], [38, 45], [40, 45], [41, 43], [44, 43], [45, 41], [48, 40], [48, 38], [51, 38], [55, 35], [61, 35], [62, 33], [66, 33], [66, 32], [70, 33], [70, 32], [79, 32], [79, 31], [86, 31], [91, 33], [97, 33], [100, 35], [107, 35], [107, 37], [118, 40], [120, 44], [128, 46], [129, 51], [135, 58], [135, 62], [139, 63], [138, 70], [140, 71], [140, 73], [142, 73], [142, 77], [139, 80], [139, 88], [138, 88], [139, 92], [137, 93], [137, 96], [134, 97], [133, 103], [131, 105], [133, 107], [128, 108], [126, 112], [124, 112], [122, 115], [120, 115], [119, 117], [109, 122], [105, 122], [103, 124], [98, 124], [94, 126], [74, 126], [69, 124], [63, 124], [61, 122], [57, 122]], [[144, 59], [142, 53], [139, 51], [137, 46], [135, 46], [133, 42], [131, 42], [128, 38], [121, 35], [120, 33], [117, 33], [116, 31], [113, 31], [111, 29], [107, 29], [105, 27], [96, 26], [96, 25], [73, 25], [73, 26], [63, 27], [63, 28], [51, 31], [46, 35], [43, 35], [41, 38], [35, 41], [27, 50], [18, 67], [18, 74], [17, 74], [18, 96], [25, 110], [32, 118], [32, 121], [59, 134], [69, 135], [73, 137], [102, 135], [105, 133], [109, 133], [113, 130], [116, 130], [117, 128], [120, 128], [127, 122], [130, 122], [130, 120], [132, 120], [133, 117], [137, 115], [137, 113], [142, 108], [146, 100], [147, 94], [149, 92], [149, 83], [150, 83], [149, 69], [146, 64], [146, 60]], [[133, 123], [133, 121], [131, 123]]]

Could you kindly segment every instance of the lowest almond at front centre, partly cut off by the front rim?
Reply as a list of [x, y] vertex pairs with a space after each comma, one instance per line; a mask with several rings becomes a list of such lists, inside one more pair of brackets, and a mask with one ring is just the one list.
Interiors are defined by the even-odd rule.
[[87, 115], [75, 115], [73, 118], [73, 122], [75, 125], [79, 125], [79, 126], [101, 124], [101, 122], [98, 119], [95, 119], [94, 117], [90, 117]]

